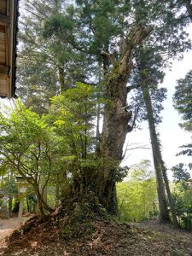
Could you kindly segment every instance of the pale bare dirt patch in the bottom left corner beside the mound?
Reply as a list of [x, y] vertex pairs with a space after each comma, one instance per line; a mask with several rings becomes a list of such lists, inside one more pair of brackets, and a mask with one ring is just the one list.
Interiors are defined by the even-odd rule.
[[[24, 223], [27, 218], [22, 218], [21, 223]], [[13, 230], [20, 226], [18, 218], [0, 219], [0, 255], [1, 249], [6, 245], [6, 237], [8, 237]]]

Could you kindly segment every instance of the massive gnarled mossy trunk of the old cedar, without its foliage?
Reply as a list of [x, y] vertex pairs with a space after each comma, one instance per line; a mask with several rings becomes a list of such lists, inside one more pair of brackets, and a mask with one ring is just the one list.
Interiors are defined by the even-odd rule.
[[[151, 32], [141, 24], [134, 27], [125, 39], [125, 52], [121, 55], [119, 64], [110, 70], [110, 56], [103, 54], [103, 68], [105, 73], [104, 93], [106, 106], [104, 108], [103, 128], [100, 148], [97, 158], [104, 161], [98, 171], [98, 197], [109, 212], [117, 214], [116, 176], [117, 168], [123, 157], [123, 146], [127, 134], [127, 125], [131, 119], [131, 112], [127, 111], [127, 80], [132, 68], [132, 53]], [[109, 71], [110, 70], [110, 71]]]

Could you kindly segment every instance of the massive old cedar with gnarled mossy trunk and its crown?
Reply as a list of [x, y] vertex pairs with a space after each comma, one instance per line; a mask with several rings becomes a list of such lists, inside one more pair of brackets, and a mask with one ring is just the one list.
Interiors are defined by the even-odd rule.
[[[39, 39], [44, 40], [44, 44], [63, 44], [58, 51], [59, 55], [66, 55], [70, 49], [72, 55], [80, 56], [82, 61], [85, 60], [81, 70], [83, 74], [89, 71], [86, 73], [87, 80], [91, 81], [90, 74], [94, 74], [92, 79], [96, 78], [96, 69], [102, 63], [102, 95], [105, 107], [96, 160], [105, 164], [96, 169], [86, 168], [84, 172], [77, 173], [80, 177], [74, 177], [78, 182], [72, 192], [76, 195], [79, 191], [92, 191], [108, 212], [115, 213], [115, 182], [119, 177], [117, 166], [123, 159], [123, 145], [129, 130], [128, 122], [131, 120], [131, 112], [127, 107], [127, 95], [130, 91], [127, 82], [133, 67], [133, 54], [146, 38], [150, 42], [156, 42], [163, 37], [163, 42], [160, 41], [163, 47], [163, 43], [183, 26], [183, 20], [177, 22], [175, 12], [169, 9], [167, 1], [128, 3], [119, 0], [77, 0], [74, 7], [65, 8], [64, 1], [54, 1], [55, 4], [61, 4], [60, 12], [56, 11], [55, 14], [52, 12], [52, 2], [47, 1], [45, 4], [44, 1], [37, 3], [31, 0], [29, 3], [31, 7], [33, 4], [38, 12], [47, 16], [42, 19], [40, 15], [39, 22], [37, 15]], [[40, 31], [44, 39], [40, 37]], [[175, 33], [170, 44], [177, 44], [178, 41]], [[174, 47], [170, 47], [170, 50], [172, 48]], [[49, 48], [51, 54], [54, 54], [54, 49]], [[71, 63], [75, 63], [74, 67], [77, 68], [79, 60], [70, 59], [65, 67], [70, 67]], [[89, 179], [84, 178], [86, 172], [90, 172]]]

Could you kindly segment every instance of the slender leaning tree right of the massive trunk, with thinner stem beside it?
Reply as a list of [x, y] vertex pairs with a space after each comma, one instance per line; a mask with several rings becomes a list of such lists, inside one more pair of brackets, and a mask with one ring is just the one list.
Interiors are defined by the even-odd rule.
[[[169, 205], [171, 207], [173, 223], [177, 226], [177, 217], [172, 201], [171, 190], [166, 175], [166, 166], [162, 160], [160, 152], [160, 139], [156, 131], [156, 125], [160, 122], [161, 102], [166, 96], [164, 88], [158, 89], [159, 82], [164, 78], [163, 62], [165, 61], [160, 54], [154, 52], [154, 49], [148, 49], [146, 46], [140, 47], [137, 51], [137, 72], [134, 73], [134, 83], [139, 88], [139, 101], [143, 103], [144, 111], [140, 114], [140, 119], [148, 120], [150, 132], [154, 169], [157, 179], [157, 192], [160, 208], [160, 220], [169, 221], [168, 208], [166, 203], [166, 194], [168, 196]], [[133, 84], [134, 84], [133, 83]], [[133, 85], [132, 85], [133, 86]], [[137, 96], [138, 97], [138, 96]], [[166, 185], [166, 193], [164, 188]]]

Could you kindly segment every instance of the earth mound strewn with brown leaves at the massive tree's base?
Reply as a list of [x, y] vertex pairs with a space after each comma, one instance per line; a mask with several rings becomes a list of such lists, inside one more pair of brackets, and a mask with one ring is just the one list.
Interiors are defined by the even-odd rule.
[[130, 226], [102, 218], [76, 224], [78, 234], [66, 217], [52, 215], [45, 222], [32, 218], [9, 237], [1, 255], [192, 255], [192, 234], [171, 225], [153, 221]]

